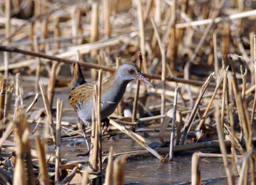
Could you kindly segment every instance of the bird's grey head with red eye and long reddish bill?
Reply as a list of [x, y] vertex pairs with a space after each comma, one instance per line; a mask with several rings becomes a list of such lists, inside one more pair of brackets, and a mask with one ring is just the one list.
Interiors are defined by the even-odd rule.
[[141, 74], [140, 68], [131, 62], [124, 63], [118, 67], [117, 77], [124, 81], [140, 80], [155, 89], [155, 86]]

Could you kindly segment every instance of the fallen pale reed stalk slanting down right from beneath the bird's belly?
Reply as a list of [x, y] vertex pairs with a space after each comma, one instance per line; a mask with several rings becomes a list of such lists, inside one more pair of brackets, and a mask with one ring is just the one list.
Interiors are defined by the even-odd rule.
[[113, 125], [114, 127], [116, 127], [117, 129], [119, 129], [120, 131], [124, 132], [125, 134], [129, 135], [129, 137], [131, 137], [132, 139], [134, 139], [138, 144], [140, 144], [142, 147], [144, 147], [145, 149], [147, 149], [151, 154], [153, 154], [155, 157], [157, 157], [158, 159], [160, 159], [161, 161], [164, 159], [163, 156], [161, 156], [160, 154], [158, 154], [154, 149], [150, 148], [148, 145], [146, 145], [143, 141], [141, 141], [141, 139], [139, 139], [137, 137], [137, 135], [135, 135], [134, 132], [129, 131], [124, 125], [120, 125], [117, 122], [115, 122], [114, 120], [109, 120], [109, 123], [111, 125]]

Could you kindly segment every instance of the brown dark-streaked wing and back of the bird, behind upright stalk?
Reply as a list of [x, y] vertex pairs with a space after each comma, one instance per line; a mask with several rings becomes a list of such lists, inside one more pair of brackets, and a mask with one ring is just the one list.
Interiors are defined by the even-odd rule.
[[75, 110], [76, 110], [76, 104], [80, 100], [87, 102], [92, 97], [93, 88], [94, 88], [94, 83], [89, 83], [89, 82], [83, 85], [80, 85], [78, 87], [72, 88], [71, 92], [69, 93], [68, 100]]

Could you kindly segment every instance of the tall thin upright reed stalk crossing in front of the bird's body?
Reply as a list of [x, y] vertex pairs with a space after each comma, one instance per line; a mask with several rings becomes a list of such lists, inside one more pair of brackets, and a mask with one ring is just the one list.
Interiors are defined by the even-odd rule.
[[[98, 129], [98, 137], [99, 137], [99, 154], [98, 154], [98, 169], [99, 172], [102, 171], [102, 141], [101, 141], [101, 83], [102, 83], [102, 70], [98, 72], [98, 92], [97, 92], [97, 129]], [[102, 181], [102, 175], [99, 178], [99, 184]]]

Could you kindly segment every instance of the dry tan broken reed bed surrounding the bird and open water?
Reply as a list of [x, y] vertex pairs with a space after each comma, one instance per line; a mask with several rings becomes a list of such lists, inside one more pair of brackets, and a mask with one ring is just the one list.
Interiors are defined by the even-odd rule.
[[[177, 184], [255, 185], [255, 20], [254, 0], [1, 1], [0, 184], [140, 184], [125, 180], [130, 161], [171, 166], [193, 151], [191, 181]], [[102, 83], [127, 61], [157, 89], [129, 84], [104, 127]], [[87, 128], [66, 119], [81, 74], [98, 81]], [[141, 149], [105, 154], [121, 137]], [[77, 138], [88, 150], [65, 159]], [[204, 178], [202, 158], [222, 158], [226, 175]]]

